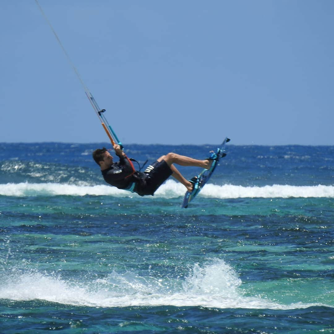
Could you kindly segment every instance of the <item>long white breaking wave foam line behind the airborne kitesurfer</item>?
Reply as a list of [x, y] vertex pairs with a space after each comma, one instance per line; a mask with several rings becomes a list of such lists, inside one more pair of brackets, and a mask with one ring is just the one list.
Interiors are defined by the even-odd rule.
[[[173, 180], [168, 180], [154, 194], [155, 197], [177, 198], [185, 193], [185, 187]], [[120, 190], [109, 185], [90, 186], [87, 183], [6, 183], [0, 184], [0, 195], [5, 196], [138, 196], [125, 190]], [[292, 185], [266, 185], [263, 187], [244, 187], [239, 185], [214, 185], [206, 184], [198, 196], [208, 198], [289, 198], [289, 197], [328, 197], [334, 198], [333, 185], [317, 186], [292, 186]]]

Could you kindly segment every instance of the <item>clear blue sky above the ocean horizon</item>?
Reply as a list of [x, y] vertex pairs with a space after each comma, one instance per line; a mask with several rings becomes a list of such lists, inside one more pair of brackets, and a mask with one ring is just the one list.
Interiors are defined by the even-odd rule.
[[[332, 0], [39, 3], [124, 144], [334, 144]], [[0, 142], [107, 142], [35, 1], [0, 27]]]

